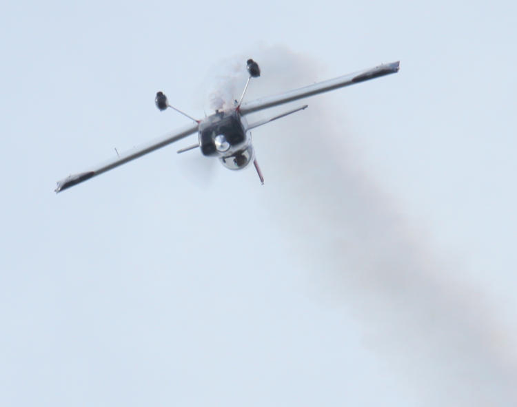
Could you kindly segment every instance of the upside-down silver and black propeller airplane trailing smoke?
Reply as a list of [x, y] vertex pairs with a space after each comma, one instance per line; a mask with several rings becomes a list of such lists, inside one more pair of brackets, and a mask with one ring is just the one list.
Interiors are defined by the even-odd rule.
[[265, 125], [266, 123], [275, 121], [278, 118], [283, 118], [289, 114], [299, 112], [307, 108], [307, 105], [303, 105], [301, 107], [297, 107], [296, 109], [291, 109], [287, 112], [283, 112], [282, 114], [277, 114], [276, 116], [265, 118], [250, 124], [248, 124], [246, 120], [247, 114], [282, 105], [283, 103], [297, 101], [298, 99], [313, 96], [315, 94], [328, 92], [330, 90], [338, 89], [339, 87], [354, 85], [354, 83], [361, 83], [364, 81], [369, 81], [370, 79], [378, 78], [380, 76], [394, 74], [398, 72], [399, 66], [400, 61], [385, 63], [373, 68], [369, 68], [367, 70], [354, 72], [353, 74], [338, 76], [334, 79], [314, 83], [313, 85], [301, 87], [296, 90], [285, 92], [283, 94], [267, 96], [264, 98], [256, 99], [255, 101], [243, 103], [243, 98], [245, 96], [247, 87], [250, 84], [250, 80], [252, 78], [258, 78], [261, 76], [259, 64], [256, 63], [253, 59], [248, 59], [246, 62], [246, 69], [249, 76], [247, 78], [246, 85], [240, 100], [234, 101], [234, 107], [230, 109], [218, 109], [214, 114], [199, 120], [189, 116], [188, 114], [185, 114], [184, 112], [181, 112], [181, 110], [176, 109], [176, 107], [171, 106], [168, 102], [167, 96], [165, 96], [163, 92], [157, 92], [154, 103], [156, 103], [156, 107], [158, 107], [158, 109], [163, 111], [165, 109], [172, 108], [176, 110], [176, 112], [179, 112], [187, 118], [190, 118], [193, 123], [186, 125], [181, 129], [176, 130], [175, 132], [165, 134], [165, 136], [160, 138], [156, 138], [149, 143], [135, 147], [125, 154], [119, 154], [117, 151], [116, 158], [113, 158], [112, 160], [109, 160], [108, 162], [101, 165], [97, 165], [97, 167], [92, 167], [78, 174], [72, 174], [63, 180], [58, 181], [57, 188], [54, 191], [56, 193], [64, 191], [65, 189], [73, 187], [80, 182], [89, 180], [94, 176], [103, 174], [105, 171], [119, 167], [119, 165], [128, 163], [128, 161], [139, 158], [145, 154], [153, 152], [156, 149], [165, 147], [166, 145], [174, 143], [195, 133], [198, 134], [198, 142], [190, 145], [189, 147], [179, 149], [179, 154], [190, 151], [191, 149], [199, 148], [203, 156], [219, 158], [221, 164], [224, 167], [234, 170], [244, 169], [245, 167], [248, 167], [250, 163], [253, 163], [256, 172], [259, 175], [259, 179], [261, 180], [261, 184], [264, 184], [262, 171], [255, 158], [250, 130], [261, 125]]

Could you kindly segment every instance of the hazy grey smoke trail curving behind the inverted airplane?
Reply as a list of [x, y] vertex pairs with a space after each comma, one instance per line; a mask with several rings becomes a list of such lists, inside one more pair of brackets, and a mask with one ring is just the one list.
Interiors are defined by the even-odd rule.
[[[316, 64], [285, 48], [252, 57], [263, 76], [250, 85], [247, 100], [316, 81]], [[236, 98], [244, 79], [221, 76], [221, 99]], [[454, 266], [412, 234], [361, 173], [352, 149], [342, 145], [334, 153], [346, 134], [343, 125], [332, 125], [332, 107], [318, 107], [317, 98], [309, 105], [306, 114], [270, 125], [261, 132], [267, 140], [256, 137], [255, 145], [266, 187], [277, 197], [263, 205], [312, 264], [320, 295], [354, 310], [364, 322], [365, 346], [407, 376], [422, 405], [517, 405], [505, 330], [482, 298], [449, 277], [457, 274]]]

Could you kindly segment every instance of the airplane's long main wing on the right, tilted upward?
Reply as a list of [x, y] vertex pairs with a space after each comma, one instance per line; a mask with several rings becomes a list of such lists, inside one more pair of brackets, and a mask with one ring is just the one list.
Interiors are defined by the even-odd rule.
[[299, 89], [291, 90], [283, 94], [267, 96], [265, 98], [256, 99], [256, 101], [243, 103], [240, 107], [241, 114], [257, 112], [262, 109], [267, 109], [268, 107], [282, 105], [283, 103], [296, 101], [301, 98], [306, 98], [307, 96], [338, 89], [338, 87], [354, 85], [354, 83], [368, 81], [369, 79], [378, 78], [379, 76], [395, 74], [398, 72], [399, 65], [400, 61], [384, 63], [383, 65], [378, 65], [368, 70], [354, 72], [353, 74], [339, 76], [338, 78], [329, 79], [328, 81], [314, 83], [314, 85], [300, 87]]

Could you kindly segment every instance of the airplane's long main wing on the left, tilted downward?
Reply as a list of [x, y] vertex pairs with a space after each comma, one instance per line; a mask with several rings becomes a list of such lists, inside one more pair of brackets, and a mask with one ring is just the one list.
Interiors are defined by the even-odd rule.
[[119, 167], [119, 165], [128, 163], [128, 161], [134, 160], [135, 158], [139, 158], [161, 147], [165, 147], [165, 145], [169, 145], [170, 143], [174, 143], [174, 141], [181, 140], [181, 138], [190, 136], [190, 134], [194, 134], [198, 131], [198, 126], [198, 123], [192, 123], [181, 129], [178, 129], [176, 132], [165, 134], [165, 136], [156, 138], [150, 141], [149, 143], [145, 143], [143, 145], [140, 145], [139, 147], [135, 147], [134, 149], [131, 149], [128, 152], [120, 154], [113, 160], [109, 160], [101, 165], [97, 165], [97, 167], [92, 167], [90, 169], [87, 169], [86, 171], [79, 172], [78, 174], [72, 174], [63, 180], [58, 181], [57, 188], [55, 189], [55, 191], [61, 192], [63, 191], [63, 189], [73, 187], [74, 185], [77, 185], [80, 182], [89, 180], [90, 178], [102, 174], [105, 171], [109, 171], [114, 167]]

